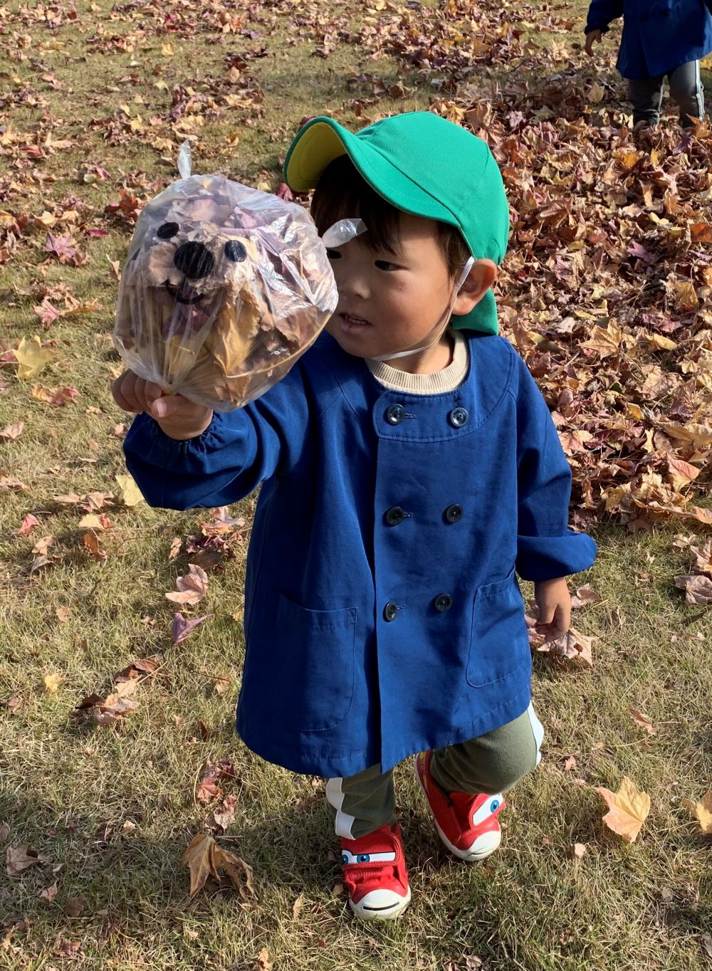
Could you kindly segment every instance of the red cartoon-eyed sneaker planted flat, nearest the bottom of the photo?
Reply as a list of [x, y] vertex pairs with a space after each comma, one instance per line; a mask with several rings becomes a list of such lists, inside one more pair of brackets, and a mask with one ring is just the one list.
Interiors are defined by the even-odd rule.
[[392, 921], [410, 903], [400, 826], [381, 826], [357, 840], [341, 840], [349, 906], [364, 921]]

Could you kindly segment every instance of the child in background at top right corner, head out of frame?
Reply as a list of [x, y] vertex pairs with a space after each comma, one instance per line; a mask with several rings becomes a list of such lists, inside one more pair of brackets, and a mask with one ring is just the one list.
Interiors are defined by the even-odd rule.
[[634, 126], [660, 121], [665, 76], [683, 128], [703, 117], [699, 58], [712, 50], [711, 12], [712, 0], [592, 0], [585, 31], [590, 56], [610, 21], [623, 17], [616, 67], [627, 78]]

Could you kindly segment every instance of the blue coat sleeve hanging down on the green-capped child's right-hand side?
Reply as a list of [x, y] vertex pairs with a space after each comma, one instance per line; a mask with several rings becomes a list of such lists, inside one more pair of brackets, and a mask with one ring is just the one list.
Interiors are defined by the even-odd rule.
[[541, 391], [519, 355], [517, 572], [554, 580], [587, 570], [595, 543], [568, 528], [571, 469]]

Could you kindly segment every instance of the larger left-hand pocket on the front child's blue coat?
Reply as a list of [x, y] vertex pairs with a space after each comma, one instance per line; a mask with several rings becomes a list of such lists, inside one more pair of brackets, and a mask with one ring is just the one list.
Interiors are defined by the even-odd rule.
[[[356, 608], [308, 610], [278, 595], [271, 643], [251, 632], [250, 685], [266, 718], [326, 731], [354, 700]], [[262, 643], [254, 643], [262, 641]]]

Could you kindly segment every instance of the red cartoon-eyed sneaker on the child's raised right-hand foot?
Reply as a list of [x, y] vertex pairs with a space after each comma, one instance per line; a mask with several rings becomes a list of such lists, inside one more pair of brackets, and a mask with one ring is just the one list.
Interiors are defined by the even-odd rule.
[[504, 797], [501, 792], [445, 792], [430, 775], [431, 758], [432, 752], [416, 755], [415, 767], [440, 839], [460, 859], [470, 863], [484, 859], [496, 850], [502, 838], [497, 814], [504, 806]]

